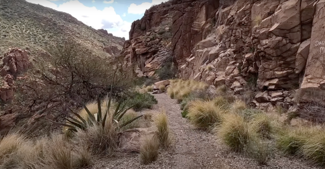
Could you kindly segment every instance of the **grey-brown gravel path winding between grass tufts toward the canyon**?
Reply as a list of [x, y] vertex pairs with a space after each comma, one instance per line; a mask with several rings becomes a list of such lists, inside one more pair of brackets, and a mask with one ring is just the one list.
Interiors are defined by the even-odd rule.
[[115, 158], [96, 162], [95, 169], [102, 168], [320, 168], [293, 157], [275, 156], [268, 165], [257, 163], [242, 154], [229, 151], [212, 133], [194, 129], [187, 119], [182, 118], [176, 100], [165, 93], [155, 94], [158, 104], [150, 112], [157, 113], [165, 109], [173, 134], [173, 146], [168, 151], [161, 151], [158, 159], [148, 165], [140, 164], [138, 154], [117, 155]]

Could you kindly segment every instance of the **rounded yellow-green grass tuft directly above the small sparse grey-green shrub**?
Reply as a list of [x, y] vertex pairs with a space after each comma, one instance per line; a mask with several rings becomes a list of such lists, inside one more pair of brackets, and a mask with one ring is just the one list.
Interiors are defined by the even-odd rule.
[[271, 134], [275, 131], [275, 124], [271, 117], [265, 113], [258, 113], [252, 120], [252, 126], [262, 137], [271, 138]]

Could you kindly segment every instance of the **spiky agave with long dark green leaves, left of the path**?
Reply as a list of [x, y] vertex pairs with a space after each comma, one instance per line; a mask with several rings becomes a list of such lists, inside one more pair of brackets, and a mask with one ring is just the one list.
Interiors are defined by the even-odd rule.
[[[101, 106], [101, 100], [100, 100], [100, 97], [98, 97], [97, 98], [98, 113], [95, 113], [95, 114], [91, 114], [89, 109], [86, 107], [86, 105], [84, 103], [82, 103], [83, 108], [86, 110], [86, 112], [88, 114], [89, 120], [85, 120], [78, 113], [74, 112], [71, 108], [68, 107], [69, 110], [76, 116], [76, 118], [67, 114], [67, 117], [65, 118], [67, 120], [67, 123], [59, 123], [59, 122], [55, 122], [55, 121], [52, 121], [52, 122], [68, 127], [67, 130], [77, 132], [78, 128], [85, 130], [87, 128], [87, 126], [89, 126], [89, 125], [102, 125], [102, 127], [104, 128], [108, 116], [111, 118], [110, 120], [112, 120], [116, 123], [116, 126], [118, 128], [122, 128], [122, 127], [126, 126], [127, 124], [130, 124], [143, 116], [143, 115], [140, 115], [140, 116], [135, 117], [135, 118], [128, 120], [126, 122], [119, 123], [121, 121], [122, 117], [124, 116], [124, 114], [129, 109], [132, 109], [138, 103], [132, 105], [131, 107], [125, 108], [127, 101], [126, 101], [126, 103], [123, 103], [123, 99], [120, 99], [114, 113], [111, 116], [111, 113], [112, 113], [112, 112], [110, 112], [111, 100], [112, 100], [112, 91], [110, 92], [109, 99], [106, 102], [106, 110], [103, 112], [102, 106]], [[121, 107], [121, 105], [122, 105], [122, 107]]]

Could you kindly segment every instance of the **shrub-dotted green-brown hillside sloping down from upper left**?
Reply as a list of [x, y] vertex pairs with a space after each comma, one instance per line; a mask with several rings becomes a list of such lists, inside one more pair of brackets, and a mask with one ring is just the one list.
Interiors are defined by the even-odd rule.
[[111, 55], [105, 52], [104, 47], [116, 46], [120, 50], [124, 42], [124, 38], [95, 30], [67, 13], [24, 0], [0, 1], [1, 55], [9, 47], [28, 49], [37, 54], [44, 51], [48, 44], [68, 38], [101, 56]]

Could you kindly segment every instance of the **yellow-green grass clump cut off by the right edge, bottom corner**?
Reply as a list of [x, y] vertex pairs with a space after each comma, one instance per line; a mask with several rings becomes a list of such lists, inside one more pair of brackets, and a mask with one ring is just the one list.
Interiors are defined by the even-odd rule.
[[301, 147], [305, 158], [320, 165], [325, 164], [325, 132], [310, 134], [308, 141]]

